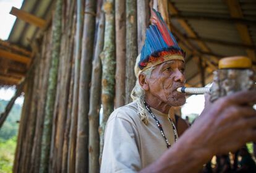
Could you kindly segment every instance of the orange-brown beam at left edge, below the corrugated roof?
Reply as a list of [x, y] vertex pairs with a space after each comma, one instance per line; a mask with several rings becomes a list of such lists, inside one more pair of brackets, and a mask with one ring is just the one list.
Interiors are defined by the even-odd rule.
[[11, 53], [9, 51], [0, 49], [0, 57], [11, 59], [13, 61], [22, 62], [24, 64], [30, 64], [31, 59], [27, 56], [22, 56], [19, 54]]

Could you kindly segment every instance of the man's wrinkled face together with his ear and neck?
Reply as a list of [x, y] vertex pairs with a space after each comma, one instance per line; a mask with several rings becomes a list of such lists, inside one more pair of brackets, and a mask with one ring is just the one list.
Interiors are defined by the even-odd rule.
[[185, 85], [185, 64], [172, 60], [156, 65], [150, 78], [139, 75], [140, 86], [145, 90], [145, 101], [158, 111], [168, 113], [171, 106], [186, 102], [185, 94], [176, 91]]

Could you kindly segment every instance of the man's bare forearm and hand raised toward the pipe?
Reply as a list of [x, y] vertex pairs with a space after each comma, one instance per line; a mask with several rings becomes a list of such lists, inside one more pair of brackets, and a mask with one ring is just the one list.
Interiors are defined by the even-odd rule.
[[142, 172], [198, 172], [212, 156], [256, 141], [256, 111], [249, 106], [255, 103], [256, 91], [240, 91], [206, 104], [177, 143]]

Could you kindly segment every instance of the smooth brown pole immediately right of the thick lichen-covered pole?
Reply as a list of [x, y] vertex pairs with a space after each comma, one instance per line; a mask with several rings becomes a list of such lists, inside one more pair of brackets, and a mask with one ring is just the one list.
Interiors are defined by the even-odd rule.
[[116, 99], [115, 107], [124, 106], [126, 81], [126, 2], [115, 1], [116, 24]]

